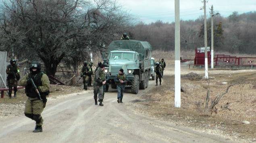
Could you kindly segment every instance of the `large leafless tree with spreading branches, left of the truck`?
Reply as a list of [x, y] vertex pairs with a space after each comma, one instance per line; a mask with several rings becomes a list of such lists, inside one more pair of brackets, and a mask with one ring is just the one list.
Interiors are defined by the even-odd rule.
[[[104, 51], [128, 25], [129, 15], [112, 0], [5, 0], [2, 6], [2, 47], [40, 58], [46, 74], [58, 64], [89, 59], [87, 51]], [[75, 66], [74, 66], [75, 67]]]

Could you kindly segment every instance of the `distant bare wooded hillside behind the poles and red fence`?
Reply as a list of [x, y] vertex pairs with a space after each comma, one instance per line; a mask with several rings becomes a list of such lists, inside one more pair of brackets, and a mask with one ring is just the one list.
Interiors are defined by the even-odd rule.
[[[204, 18], [181, 20], [181, 50], [204, 47]], [[175, 49], [175, 23], [160, 20], [145, 24], [138, 23], [130, 29], [133, 39], [148, 41], [154, 50], [170, 51]], [[207, 19], [207, 45], [211, 46], [211, 20]], [[228, 17], [214, 16], [214, 49], [230, 53], [256, 53], [256, 12]]]

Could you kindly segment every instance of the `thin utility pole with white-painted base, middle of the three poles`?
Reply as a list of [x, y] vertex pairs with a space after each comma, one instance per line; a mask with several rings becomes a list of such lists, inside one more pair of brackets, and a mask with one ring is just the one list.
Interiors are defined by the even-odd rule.
[[207, 25], [206, 25], [206, 0], [204, 0], [204, 66], [205, 78], [208, 79], [208, 58], [207, 58]]

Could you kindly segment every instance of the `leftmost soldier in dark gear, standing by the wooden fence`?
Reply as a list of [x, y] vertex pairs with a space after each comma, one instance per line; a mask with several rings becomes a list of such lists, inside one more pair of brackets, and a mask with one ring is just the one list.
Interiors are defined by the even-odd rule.
[[12, 87], [14, 90], [14, 97], [17, 96], [16, 95], [17, 84], [18, 84], [18, 80], [20, 79], [19, 73], [20, 73], [19, 65], [16, 64], [15, 59], [11, 59], [10, 65], [8, 65], [8, 67], [6, 69], [6, 74], [8, 74], [7, 82], [8, 82], [8, 86], [9, 86], [9, 90], [8, 90], [9, 98], [12, 98]]

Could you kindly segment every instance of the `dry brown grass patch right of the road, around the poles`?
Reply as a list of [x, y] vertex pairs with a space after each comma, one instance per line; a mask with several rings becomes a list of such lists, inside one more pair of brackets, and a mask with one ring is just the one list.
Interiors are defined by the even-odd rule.
[[[182, 79], [181, 87], [185, 92], [181, 92], [181, 108], [174, 108], [173, 76], [165, 76], [162, 86], [157, 86], [143, 96], [148, 102], [138, 104], [148, 106], [142, 106], [140, 110], [165, 120], [178, 121], [175, 122], [177, 125], [220, 129], [229, 135], [238, 135], [241, 138], [248, 139], [255, 138], [256, 73], [214, 76], [215, 78], [210, 80], [209, 104], [217, 94], [225, 92], [227, 86], [233, 84], [229, 92], [216, 105], [216, 113], [204, 112], [204, 100], [208, 85], [205, 80]], [[222, 84], [222, 82], [228, 82], [228, 84]], [[227, 102], [229, 103], [229, 109], [222, 108]], [[249, 121], [250, 125], [244, 125], [242, 121]]]

